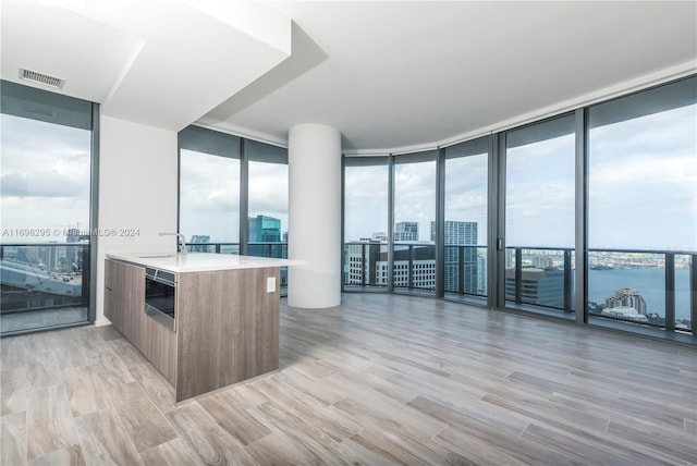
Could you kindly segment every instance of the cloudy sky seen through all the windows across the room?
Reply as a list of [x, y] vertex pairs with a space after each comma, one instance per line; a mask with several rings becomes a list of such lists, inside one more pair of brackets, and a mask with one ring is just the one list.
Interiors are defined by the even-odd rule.
[[[64, 241], [86, 228], [89, 132], [2, 114], [2, 242]], [[239, 241], [239, 160], [182, 157], [181, 231], [213, 242]], [[572, 135], [512, 148], [506, 156], [506, 244], [574, 244]], [[288, 165], [250, 162], [249, 214], [288, 229]], [[476, 221], [486, 244], [486, 156], [447, 161], [447, 220]], [[419, 222], [430, 240], [435, 162], [398, 163], [395, 221]], [[589, 247], [697, 250], [697, 107], [689, 106], [589, 132]], [[387, 232], [386, 167], [347, 168], [345, 237]], [[50, 230], [26, 237], [17, 229]], [[54, 235], [54, 232], [60, 234]], [[34, 240], [34, 241], [33, 241]]]

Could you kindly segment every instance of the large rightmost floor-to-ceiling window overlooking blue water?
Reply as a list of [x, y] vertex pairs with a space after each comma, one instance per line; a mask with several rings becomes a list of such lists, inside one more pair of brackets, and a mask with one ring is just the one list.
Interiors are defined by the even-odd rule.
[[694, 324], [696, 89], [692, 77], [588, 110], [588, 312], [596, 322]]

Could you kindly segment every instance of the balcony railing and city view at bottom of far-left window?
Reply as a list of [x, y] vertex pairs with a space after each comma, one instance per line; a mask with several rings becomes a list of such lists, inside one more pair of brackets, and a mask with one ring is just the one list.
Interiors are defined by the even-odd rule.
[[0, 245], [2, 314], [89, 304], [89, 244]]

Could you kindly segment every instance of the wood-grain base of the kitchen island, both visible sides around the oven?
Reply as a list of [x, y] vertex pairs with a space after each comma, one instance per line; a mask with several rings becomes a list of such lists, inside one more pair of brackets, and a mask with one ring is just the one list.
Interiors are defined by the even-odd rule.
[[186, 400], [279, 368], [278, 267], [178, 273], [175, 329], [145, 312], [145, 267], [107, 259], [105, 316]]

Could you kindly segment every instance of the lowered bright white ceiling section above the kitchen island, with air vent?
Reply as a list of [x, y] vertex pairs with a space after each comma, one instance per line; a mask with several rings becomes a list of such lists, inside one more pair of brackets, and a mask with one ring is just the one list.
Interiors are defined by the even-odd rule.
[[219, 3], [2, 1], [2, 78], [49, 74], [103, 114], [179, 131], [290, 56], [289, 17]]

